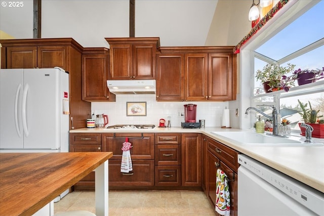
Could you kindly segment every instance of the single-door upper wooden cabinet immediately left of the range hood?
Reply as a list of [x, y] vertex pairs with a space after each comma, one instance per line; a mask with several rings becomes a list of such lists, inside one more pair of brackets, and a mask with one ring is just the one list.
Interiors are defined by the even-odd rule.
[[107, 88], [109, 79], [109, 49], [85, 48], [82, 54], [82, 100], [116, 101]]

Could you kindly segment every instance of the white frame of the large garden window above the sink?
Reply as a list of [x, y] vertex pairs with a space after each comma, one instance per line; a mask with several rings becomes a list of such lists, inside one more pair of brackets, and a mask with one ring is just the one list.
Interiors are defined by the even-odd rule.
[[[293, 54], [290, 54], [284, 58], [281, 58], [278, 61], [272, 60], [268, 57], [263, 56], [262, 54], [256, 53], [260, 46], [264, 44], [265, 41], [273, 37], [276, 33], [287, 27], [290, 23], [294, 22], [298, 17], [316, 5], [319, 1], [289, 1], [285, 7], [281, 8], [276, 16], [270, 19], [256, 34], [246, 42], [240, 49], [240, 110], [244, 112], [248, 107], [256, 107], [256, 105], [261, 105], [260, 103], [255, 102], [255, 98], [264, 97], [262, 96], [253, 96], [254, 92], [254, 59], [262, 58], [261, 60], [269, 63], [282, 64], [290, 59], [296, 58], [296, 56], [302, 55], [309, 52], [310, 50], [316, 49], [317, 47], [322, 46], [324, 39], [320, 39], [314, 42], [311, 45], [308, 45]], [[316, 83], [316, 84], [315, 84]], [[313, 86], [318, 87], [318, 85], [323, 85], [324, 81], [317, 81], [311, 84], [308, 84], [307, 87], [295, 87], [292, 88], [289, 92], [290, 95], [298, 94], [298, 90], [307, 89], [302, 94], [310, 94], [313, 91], [319, 91], [313, 89]], [[245, 88], [250, 86], [250, 88]], [[289, 97], [289, 94], [282, 93], [284, 91], [278, 91], [276, 93], [267, 93], [268, 97], [273, 97], [273, 103], [267, 103], [267, 105], [274, 105], [279, 110], [279, 100], [280, 97]], [[293, 94], [292, 94], [293, 93]], [[270, 95], [268, 95], [270, 94]], [[282, 96], [281, 96], [282, 94]], [[253, 127], [256, 118], [253, 115], [241, 115], [240, 117], [240, 128], [241, 129], [250, 129]]]

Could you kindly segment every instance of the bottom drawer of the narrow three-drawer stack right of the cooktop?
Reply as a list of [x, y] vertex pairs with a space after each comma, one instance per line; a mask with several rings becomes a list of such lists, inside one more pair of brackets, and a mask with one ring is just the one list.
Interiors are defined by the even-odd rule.
[[181, 186], [181, 166], [155, 166], [155, 186]]

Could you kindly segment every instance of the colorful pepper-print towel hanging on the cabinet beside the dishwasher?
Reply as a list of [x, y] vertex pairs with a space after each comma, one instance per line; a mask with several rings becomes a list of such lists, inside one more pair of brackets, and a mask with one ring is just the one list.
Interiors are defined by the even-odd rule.
[[225, 216], [230, 214], [230, 197], [227, 183], [227, 176], [221, 170], [216, 171], [216, 206], [215, 210]]

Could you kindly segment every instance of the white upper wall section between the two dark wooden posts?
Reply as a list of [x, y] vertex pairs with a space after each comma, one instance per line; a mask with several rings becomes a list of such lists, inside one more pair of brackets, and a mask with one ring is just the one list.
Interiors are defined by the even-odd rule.
[[108, 47], [105, 37], [129, 37], [129, 1], [42, 1], [42, 37]]

